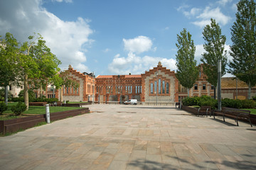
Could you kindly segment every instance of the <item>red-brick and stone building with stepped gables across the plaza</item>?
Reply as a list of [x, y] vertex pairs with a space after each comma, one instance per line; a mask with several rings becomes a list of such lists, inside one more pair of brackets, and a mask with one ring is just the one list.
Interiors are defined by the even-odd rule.
[[[214, 96], [214, 86], [206, 80], [202, 64], [198, 81], [189, 89], [189, 96]], [[161, 62], [144, 72], [143, 74], [129, 75], [95, 75], [80, 73], [69, 66], [68, 76], [78, 82], [79, 87], [64, 86], [62, 90], [48, 86], [42, 94], [46, 98], [58, 98], [63, 96], [63, 101], [93, 101], [96, 103], [123, 103], [129, 99], [137, 99], [145, 105], [173, 105], [188, 96], [186, 88], [179, 84], [174, 71], [162, 67]], [[23, 89], [10, 87], [14, 97]], [[40, 96], [40, 90], [34, 90], [36, 97]], [[54, 94], [54, 95], [53, 95]], [[216, 93], [217, 94], [217, 93]], [[244, 82], [233, 77], [221, 79], [221, 97], [245, 99], [248, 94], [248, 86]], [[251, 96], [256, 96], [256, 86], [252, 87]]]

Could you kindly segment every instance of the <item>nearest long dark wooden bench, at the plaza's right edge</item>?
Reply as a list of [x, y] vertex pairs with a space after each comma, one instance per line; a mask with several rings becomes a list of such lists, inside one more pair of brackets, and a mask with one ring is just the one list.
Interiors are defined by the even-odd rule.
[[235, 122], [238, 125], [238, 118], [242, 120], [249, 120], [250, 125], [252, 127], [252, 123], [250, 121], [250, 111], [242, 110], [238, 108], [222, 108], [221, 111], [214, 111], [213, 118], [215, 118], [215, 114], [223, 115], [223, 121], [225, 122], [225, 116], [235, 118]]

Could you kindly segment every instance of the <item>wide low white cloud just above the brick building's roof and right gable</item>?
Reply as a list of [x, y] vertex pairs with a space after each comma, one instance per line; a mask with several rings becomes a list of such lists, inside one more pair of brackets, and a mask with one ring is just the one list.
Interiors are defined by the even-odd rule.
[[176, 70], [176, 60], [166, 59], [161, 57], [138, 57], [133, 52], [129, 52], [127, 57], [114, 57], [108, 69], [112, 74], [142, 74], [149, 69], [156, 67], [158, 62], [161, 62], [163, 67]]

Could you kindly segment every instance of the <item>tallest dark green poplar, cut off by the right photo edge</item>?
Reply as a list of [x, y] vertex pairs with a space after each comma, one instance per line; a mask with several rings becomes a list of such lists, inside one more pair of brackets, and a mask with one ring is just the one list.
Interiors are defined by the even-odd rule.
[[231, 28], [229, 73], [244, 81], [248, 87], [248, 99], [251, 87], [256, 84], [256, 4], [253, 0], [240, 0], [237, 4], [236, 20]]

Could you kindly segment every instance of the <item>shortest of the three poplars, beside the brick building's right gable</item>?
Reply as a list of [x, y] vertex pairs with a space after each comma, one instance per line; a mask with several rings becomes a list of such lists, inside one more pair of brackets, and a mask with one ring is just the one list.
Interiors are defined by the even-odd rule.
[[181, 31], [181, 35], [177, 35], [178, 43], [176, 43], [176, 47], [178, 47], [178, 54], [176, 55], [176, 77], [181, 85], [188, 89], [188, 96], [189, 89], [193, 87], [199, 74], [195, 60], [196, 47], [191, 36], [184, 28]]

